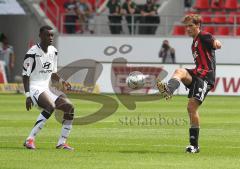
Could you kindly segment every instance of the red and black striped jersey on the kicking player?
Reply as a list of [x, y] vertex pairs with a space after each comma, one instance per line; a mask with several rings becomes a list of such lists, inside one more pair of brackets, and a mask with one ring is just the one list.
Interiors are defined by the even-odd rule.
[[206, 80], [211, 86], [214, 85], [216, 71], [214, 40], [210, 33], [199, 32], [192, 43], [192, 54], [196, 64], [193, 74]]

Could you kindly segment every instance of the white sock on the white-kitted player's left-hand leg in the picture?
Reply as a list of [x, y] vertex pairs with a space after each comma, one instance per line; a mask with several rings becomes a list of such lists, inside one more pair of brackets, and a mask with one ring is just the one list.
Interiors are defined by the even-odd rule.
[[35, 139], [36, 135], [43, 128], [46, 121], [47, 121], [47, 119], [42, 115], [42, 113], [40, 113], [37, 118], [37, 122], [35, 123], [32, 131], [30, 132], [27, 139]]

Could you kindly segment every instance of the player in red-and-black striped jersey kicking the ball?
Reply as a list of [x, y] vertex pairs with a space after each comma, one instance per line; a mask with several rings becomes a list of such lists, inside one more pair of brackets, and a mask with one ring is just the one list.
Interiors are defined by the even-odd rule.
[[193, 38], [192, 54], [196, 67], [194, 69], [176, 69], [167, 83], [158, 81], [157, 87], [166, 99], [171, 98], [180, 82], [189, 89], [187, 110], [190, 118], [190, 145], [186, 147], [186, 152], [198, 153], [200, 151], [198, 145], [200, 130], [198, 108], [207, 93], [214, 87], [215, 50], [220, 49], [222, 45], [210, 33], [201, 31], [201, 17], [199, 15], [186, 15], [183, 24], [187, 34]]

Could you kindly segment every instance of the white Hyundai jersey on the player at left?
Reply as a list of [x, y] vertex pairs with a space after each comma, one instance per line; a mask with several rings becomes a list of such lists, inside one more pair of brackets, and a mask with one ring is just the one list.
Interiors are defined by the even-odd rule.
[[23, 62], [22, 75], [29, 76], [31, 86], [48, 87], [52, 73], [57, 72], [57, 49], [48, 46], [45, 53], [39, 44], [32, 46]]

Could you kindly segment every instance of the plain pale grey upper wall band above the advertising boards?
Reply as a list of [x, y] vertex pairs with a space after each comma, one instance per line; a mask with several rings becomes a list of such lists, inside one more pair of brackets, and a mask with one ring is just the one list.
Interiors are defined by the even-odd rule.
[[[162, 41], [168, 39], [175, 48], [177, 63], [193, 63], [191, 38], [182, 37], [79, 37], [59, 36], [59, 65], [64, 66], [76, 59], [94, 59], [111, 62], [123, 57], [128, 62], [161, 63], [158, 57]], [[216, 51], [217, 63], [240, 64], [238, 51], [239, 38], [218, 38], [223, 48]]]

